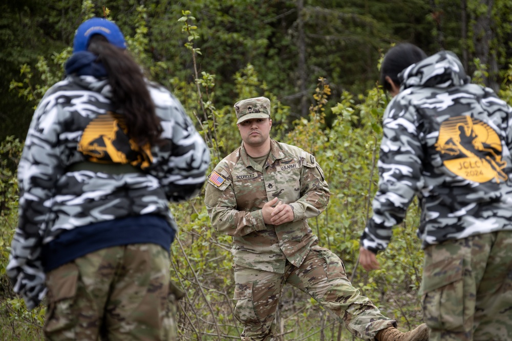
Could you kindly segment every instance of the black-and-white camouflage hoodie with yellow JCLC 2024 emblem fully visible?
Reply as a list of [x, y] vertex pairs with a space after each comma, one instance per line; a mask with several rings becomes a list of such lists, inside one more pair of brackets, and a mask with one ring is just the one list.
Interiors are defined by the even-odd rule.
[[386, 108], [379, 185], [361, 243], [385, 249], [415, 195], [422, 246], [512, 230], [511, 108], [439, 52], [404, 70]]

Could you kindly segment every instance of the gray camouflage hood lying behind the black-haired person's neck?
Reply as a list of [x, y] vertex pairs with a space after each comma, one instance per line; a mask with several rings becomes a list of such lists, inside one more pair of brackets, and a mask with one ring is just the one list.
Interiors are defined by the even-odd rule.
[[459, 58], [450, 51], [441, 51], [412, 64], [399, 75], [401, 89], [412, 86], [449, 88], [470, 83]]

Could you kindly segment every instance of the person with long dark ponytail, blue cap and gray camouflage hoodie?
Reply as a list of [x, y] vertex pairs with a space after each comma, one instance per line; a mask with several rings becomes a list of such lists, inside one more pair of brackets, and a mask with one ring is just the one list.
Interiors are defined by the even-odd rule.
[[199, 193], [209, 151], [125, 49], [112, 21], [80, 25], [19, 162], [7, 274], [28, 308], [47, 296], [50, 340], [176, 339], [168, 203]]

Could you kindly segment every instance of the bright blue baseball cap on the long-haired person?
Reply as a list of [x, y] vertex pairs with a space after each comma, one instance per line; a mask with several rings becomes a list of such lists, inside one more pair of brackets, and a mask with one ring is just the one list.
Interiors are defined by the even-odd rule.
[[102, 18], [91, 18], [82, 22], [76, 30], [73, 41], [73, 53], [87, 51], [89, 39], [91, 39], [93, 34], [101, 34], [111, 44], [118, 48], [126, 49], [124, 36], [114, 22]]

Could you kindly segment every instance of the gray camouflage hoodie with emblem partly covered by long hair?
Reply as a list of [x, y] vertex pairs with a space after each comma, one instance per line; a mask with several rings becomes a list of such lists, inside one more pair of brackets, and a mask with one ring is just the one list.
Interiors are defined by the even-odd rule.
[[[176, 229], [169, 200], [195, 196], [204, 184], [207, 146], [172, 94], [153, 83], [147, 87], [165, 143], [151, 150], [147, 146], [149, 161], [142, 160], [147, 167], [140, 172], [67, 171], [72, 164], [91, 160], [84, 148], [98, 154], [106, 148], [113, 163], [118, 158], [119, 163], [143, 168], [141, 160], [121, 157], [116, 149], [120, 135], [119, 129], [112, 128], [118, 126], [110, 111], [108, 80], [68, 76], [48, 90], [35, 110], [18, 167], [19, 224], [7, 266], [14, 290], [23, 295], [29, 308], [46, 292], [41, 244], [63, 230], [133, 215], [162, 215]], [[98, 129], [110, 129], [114, 135], [95, 134]], [[89, 131], [87, 141], [84, 130]], [[103, 149], [98, 147], [102, 143]], [[133, 146], [126, 141], [121, 144]], [[129, 160], [122, 161], [123, 157]]]

